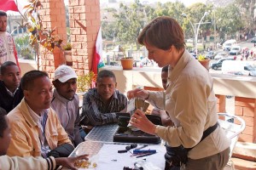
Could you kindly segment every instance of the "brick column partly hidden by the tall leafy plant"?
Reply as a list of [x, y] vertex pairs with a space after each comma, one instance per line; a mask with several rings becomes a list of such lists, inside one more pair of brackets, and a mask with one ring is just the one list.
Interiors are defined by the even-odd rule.
[[[55, 29], [55, 39], [61, 38], [67, 43], [66, 11], [63, 0], [41, 0], [43, 8], [40, 9], [43, 28], [48, 30]], [[65, 59], [61, 48], [55, 48], [51, 53], [43, 46], [40, 47], [40, 57], [42, 59], [40, 70], [49, 73], [53, 78], [55, 69], [65, 64]]]

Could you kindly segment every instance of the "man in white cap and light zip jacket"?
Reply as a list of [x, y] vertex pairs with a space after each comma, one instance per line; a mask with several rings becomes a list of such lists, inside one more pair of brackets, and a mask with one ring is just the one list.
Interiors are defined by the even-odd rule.
[[76, 146], [83, 141], [79, 133], [79, 96], [76, 94], [77, 75], [71, 67], [61, 65], [55, 70], [53, 84], [55, 89], [51, 107], [56, 111], [69, 139]]

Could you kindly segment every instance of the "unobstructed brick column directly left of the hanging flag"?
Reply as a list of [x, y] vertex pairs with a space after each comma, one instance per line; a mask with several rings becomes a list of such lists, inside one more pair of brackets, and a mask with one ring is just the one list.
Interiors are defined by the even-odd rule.
[[99, 0], [69, 0], [73, 68], [78, 75], [90, 71], [96, 37], [101, 26]]

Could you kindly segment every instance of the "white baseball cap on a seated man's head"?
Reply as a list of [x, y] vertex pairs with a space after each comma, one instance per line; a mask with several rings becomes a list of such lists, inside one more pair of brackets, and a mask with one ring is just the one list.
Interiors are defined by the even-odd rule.
[[58, 79], [60, 82], [67, 82], [72, 78], [78, 78], [78, 76], [70, 66], [61, 65], [55, 70], [54, 81]]

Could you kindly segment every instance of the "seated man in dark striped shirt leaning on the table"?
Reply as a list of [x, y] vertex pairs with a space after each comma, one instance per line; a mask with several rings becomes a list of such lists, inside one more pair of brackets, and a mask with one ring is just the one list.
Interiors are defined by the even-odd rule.
[[117, 82], [112, 71], [102, 70], [96, 78], [96, 88], [84, 94], [82, 124], [103, 125], [117, 122], [116, 112], [125, 112], [127, 98], [116, 88]]

